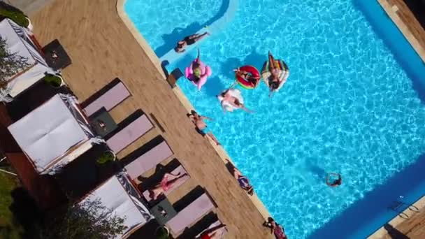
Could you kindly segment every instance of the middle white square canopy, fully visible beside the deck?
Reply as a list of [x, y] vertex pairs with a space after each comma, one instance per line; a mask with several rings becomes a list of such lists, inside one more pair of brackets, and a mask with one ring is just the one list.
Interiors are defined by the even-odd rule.
[[54, 174], [92, 143], [102, 142], [94, 138], [75, 97], [65, 94], [56, 94], [8, 129], [41, 174]]

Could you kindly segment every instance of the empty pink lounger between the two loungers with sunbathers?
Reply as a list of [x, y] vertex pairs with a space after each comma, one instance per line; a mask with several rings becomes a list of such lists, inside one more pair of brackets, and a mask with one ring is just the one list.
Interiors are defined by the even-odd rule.
[[173, 232], [174, 236], [179, 235], [185, 228], [189, 227], [213, 208], [214, 203], [212, 203], [208, 194], [204, 193], [187, 205], [186, 208], [178, 212], [175, 217], [166, 223], [166, 226]]

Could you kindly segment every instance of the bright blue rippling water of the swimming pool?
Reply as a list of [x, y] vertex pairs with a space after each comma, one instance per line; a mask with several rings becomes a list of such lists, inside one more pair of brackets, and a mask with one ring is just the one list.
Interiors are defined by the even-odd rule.
[[[176, 41], [224, 15], [227, 5], [127, 0], [125, 10], [161, 57]], [[376, 1], [240, 1], [224, 30], [200, 45], [201, 59], [213, 71], [203, 89], [179, 80], [196, 110], [215, 119], [208, 128], [289, 238], [320, 238], [326, 222], [365, 201], [424, 152], [419, 80], [425, 66], [397, 34]], [[233, 82], [232, 69], [261, 68], [268, 50], [287, 62], [287, 83], [271, 99], [262, 83], [243, 89], [255, 113], [224, 115], [215, 95]], [[195, 55], [189, 52], [169, 68], [184, 70]], [[341, 173], [343, 185], [327, 187], [326, 172]]]

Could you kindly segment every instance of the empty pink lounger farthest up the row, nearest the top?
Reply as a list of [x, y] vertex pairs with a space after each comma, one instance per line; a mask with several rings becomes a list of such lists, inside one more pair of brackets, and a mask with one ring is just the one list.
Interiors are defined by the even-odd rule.
[[119, 82], [117, 85], [108, 89], [108, 91], [102, 94], [98, 99], [89, 103], [89, 105], [84, 108], [84, 111], [87, 116], [93, 115], [93, 113], [100, 110], [102, 107], [105, 107], [106, 110], [109, 111], [129, 96], [131, 96], [129, 89], [125, 87], [123, 82]]

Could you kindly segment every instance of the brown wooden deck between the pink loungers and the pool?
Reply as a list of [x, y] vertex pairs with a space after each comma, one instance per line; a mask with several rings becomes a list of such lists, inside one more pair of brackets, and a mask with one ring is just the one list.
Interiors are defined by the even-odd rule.
[[115, 121], [141, 108], [164, 128], [161, 132], [157, 126], [118, 157], [161, 134], [191, 175], [189, 182], [170, 194], [172, 202], [201, 185], [217, 203], [219, 219], [228, 225], [226, 238], [273, 238], [262, 226], [264, 217], [228, 173], [219, 154], [194, 131], [158, 62], [152, 63], [152, 52], [141, 48], [117, 14], [116, 5], [116, 0], [56, 0], [30, 17], [41, 45], [58, 38], [69, 53], [73, 64], [63, 75], [80, 101], [118, 77], [133, 96], [113, 109]]

